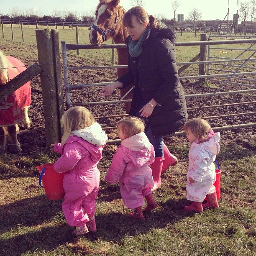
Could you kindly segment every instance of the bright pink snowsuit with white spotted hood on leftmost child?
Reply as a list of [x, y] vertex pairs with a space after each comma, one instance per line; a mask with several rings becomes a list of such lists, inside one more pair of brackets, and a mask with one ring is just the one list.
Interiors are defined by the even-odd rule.
[[102, 159], [102, 149], [108, 137], [98, 123], [72, 131], [67, 141], [54, 145], [61, 154], [55, 162], [56, 172], [66, 172], [63, 179], [65, 191], [62, 210], [70, 226], [81, 226], [96, 211], [95, 199], [99, 192], [100, 171], [97, 164]]

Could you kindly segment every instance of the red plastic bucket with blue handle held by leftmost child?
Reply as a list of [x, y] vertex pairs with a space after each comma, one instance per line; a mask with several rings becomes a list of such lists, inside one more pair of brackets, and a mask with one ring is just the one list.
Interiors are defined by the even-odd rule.
[[[64, 173], [58, 173], [54, 170], [54, 164], [44, 164], [36, 166], [40, 173], [39, 185], [44, 187], [45, 194], [49, 200], [58, 200], [64, 198], [65, 192], [63, 189]], [[44, 186], [41, 181], [43, 180]]]

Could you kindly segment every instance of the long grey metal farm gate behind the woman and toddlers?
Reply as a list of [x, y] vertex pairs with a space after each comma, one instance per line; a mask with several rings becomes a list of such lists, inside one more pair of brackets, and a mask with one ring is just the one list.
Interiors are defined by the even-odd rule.
[[[211, 38], [213, 36], [210, 36]], [[218, 35], [218, 37], [221, 37]], [[225, 36], [227, 37], [227, 36]], [[212, 45], [218, 45], [218, 44], [252, 44], [248, 49], [242, 49], [242, 51], [250, 51], [250, 56], [246, 58], [241, 58], [238, 59], [242, 54], [239, 54], [238, 56], [234, 58], [227, 58], [227, 57], [215, 57], [211, 56], [210, 54], [212, 53], [212, 50], [219, 50], [225, 48], [217, 48], [217, 47], [212, 47]], [[205, 60], [200, 61], [193, 61], [193, 59], [198, 59], [198, 56], [193, 58], [189, 62], [180, 62], [177, 63], [177, 65], [184, 65], [183, 67], [188, 67], [189, 65], [198, 65], [203, 66], [204, 68], [207, 66], [207, 74], [204, 75], [198, 75], [198, 76], [179, 76], [180, 80], [187, 80], [187, 79], [208, 79], [207, 81], [214, 81], [214, 82], [219, 82], [220, 87], [215, 90], [213, 93], [200, 93], [200, 94], [190, 94], [190, 95], [185, 95], [186, 98], [195, 98], [195, 97], [212, 97], [212, 96], [217, 96], [217, 95], [232, 95], [232, 94], [237, 94], [237, 93], [255, 93], [256, 92], [256, 86], [255, 86], [255, 77], [256, 77], [256, 67], [251, 67], [248, 66], [247, 63], [253, 62], [255, 64], [256, 61], [256, 49], [252, 49], [256, 44], [256, 38], [253, 39], [246, 39], [246, 40], [225, 40], [225, 41], [197, 41], [197, 42], [178, 42], [175, 47], [179, 46], [208, 46], [208, 60], [206, 61], [206, 56]], [[71, 102], [70, 100], [70, 91], [71, 90], [81, 90], [86, 88], [89, 90], [90, 87], [95, 87], [95, 86], [102, 86], [102, 85], [107, 85], [110, 84], [111, 82], [98, 82], [98, 83], [84, 83], [84, 84], [69, 84], [69, 77], [68, 77], [68, 71], [69, 70], [85, 70], [85, 69], [113, 69], [113, 68], [124, 68], [127, 67], [127, 65], [112, 65], [112, 66], [95, 66], [95, 67], [68, 67], [67, 64], [67, 51], [71, 50], [81, 50], [81, 49], [99, 49], [97, 46], [92, 46], [90, 44], [84, 44], [84, 45], [79, 45], [79, 44], [66, 44], [65, 41], [61, 41], [61, 47], [62, 47], [62, 58], [63, 58], [63, 69], [64, 69], [64, 86], [65, 86], [65, 93], [66, 93], [66, 104], [67, 108], [70, 108], [72, 106], [76, 105], [83, 105], [83, 106], [88, 106], [88, 105], [109, 105], [109, 104], [115, 104], [117, 105], [119, 102], [124, 103], [124, 102], [131, 102], [131, 100], [112, 100], [112, 101], [97, 101], [97, 102]], [[113, 48], [126, 48], [125, 44], [104, 44], [100, 46], [100, 49], [113, 49]], [[231, 48], [230, 48], [231, 49]], [[236, 49], [238, 50], [238, 48]], [[241, 50], [241, 48], [239, 48]], [[218, 59], [218, 60], [212, 60], [212, 59]], [[231, 65], [231, 62], [235, 62], [237, 65]], [[225, 64], [228, 63], [228, 64]], [[238, 64], [239, 63], [239, 64]], [[214, 65], [214, 66], [212, 66]], [[221, 69], [216, 69], [215, 67], [221, 66]], [[227, 70], [225, 67], [234, 67], [236, 70], [235, 71], [230, 71]], [[244, 70], [246, 69], [246, 70]], [[250, 70], [250, 71], [248, 71]], [[210, 72], [214, 71], [215, 73], [212, 74]], [[243, 71], [243, 72], [242, 72]], [[246, 78], [244, 78], [246, 76]], [[249, 78], [247, 78], [249, 76]], [[232, 82], [232, 79], [236, 77], [236, 79], [241, 79], [242, 81], [246, 81], [245, 83], [238, 83], [238, 82]], [[250, 87], [249, 89], [245, 90], [238, 90], [238, 91], [223, 91], [221, 89], [225, 89], [225, 84], [227, 83], [233, 83], [233, 84], [241, 84], [241, 85], [246, 85]], [[221, 91], [220, 91], [221, 90]], [[205, 102], [204, 102], [205, 103]], [[227, 105], [241, 105], [241, 104], [255, 104], [256, 101], [251, 101], [251, 102], [239, 102], [239, 103], [230, 103], [230, 104], [220, 104], [220, 105], [208, 105], [204, 106], [201, 105], [199, 108], [204, 109], [204, 108], [216, 108], [216, 107], [226, 107]], [[188, 110], [197, 110], [198, 107], [196, 108], [188, 108]], [[212, 117], [205, 117], [205, 119], [208, 118], [220, 118], [220, 117], [228, 117], [228, 116], [234, 116], [234, 115], [255, 115], [256, 112], [251, 112], [251, 113], [237, 113], [237, 114], [231, 114], [231, 115], [218, 115], [218, 116], [212, 116]], [[120, 116], [125, 116], [125, 115], [111, 115], [111, 116], [106, 116], [106, 118], [111, 117], [120, 117]], [[237, 124], [237, 125], [228, 125], [228, 126], [221, 126], [221, 127], [215, 127], [213, 130], [215, 131], [220, 131], [220, 130], [227, 130], [227, 129], [233, 129], [233, 128], [244, 128], [244, 127], [251, 127], [251, 126], [256, 126], [256, 123], [253, 121], [252, 123], [243, 123], [243, 124]], [[115, 126], [113, 127], [108, 127], [105, 129], [113, 129], [116, 128]], [[103, 128], [104, 129], [104, 128]], [[173, 135], [180, 136], [183, 135], [183, 132], [176, 132]], [[112, 140], [108, 141], [108, 143], [115, 143], [118, 142], [119, 140]]]

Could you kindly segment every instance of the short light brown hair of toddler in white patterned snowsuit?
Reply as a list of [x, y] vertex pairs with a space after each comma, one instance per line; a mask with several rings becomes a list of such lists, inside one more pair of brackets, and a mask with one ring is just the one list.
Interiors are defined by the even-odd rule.
[[184, 124], [184, 131], [192, 133], [197, 139], [206, 139], [210, 130], [209, 123], [202, 118], [195, 118]]

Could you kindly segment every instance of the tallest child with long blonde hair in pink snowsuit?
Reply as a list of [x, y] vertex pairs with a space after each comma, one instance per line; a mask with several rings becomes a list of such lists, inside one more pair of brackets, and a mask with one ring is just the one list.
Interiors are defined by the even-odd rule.
[[61, 154], [55, 162], [56, 172], [66, 172], [62, 210], [74, 236], [96, 231], [95, 211], [99, 191], [102, 149], [108, 137], [84, 107], [73, 107], [64, 115], [64, 135], [51, 150]]

